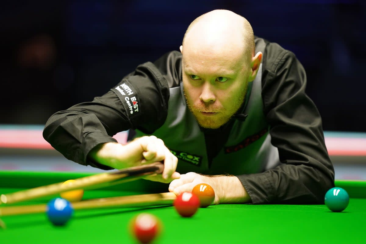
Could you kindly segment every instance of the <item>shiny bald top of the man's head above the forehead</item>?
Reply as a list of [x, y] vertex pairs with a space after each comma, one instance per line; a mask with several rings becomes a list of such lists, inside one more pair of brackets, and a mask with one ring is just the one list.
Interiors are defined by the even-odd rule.
[[242, 55], [249, 61], [254, 54], [250, 23], [228, 10], [213, 10], [196, 18], [184, 34], [183, 49], [204, 54]]

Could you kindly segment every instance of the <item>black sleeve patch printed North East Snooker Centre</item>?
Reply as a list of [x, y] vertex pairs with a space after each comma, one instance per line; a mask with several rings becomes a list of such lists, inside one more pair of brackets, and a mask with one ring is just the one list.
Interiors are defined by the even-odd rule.
[[137, 96], [136, 90], [128, 80], [125, 80], [111, 90], [119, 97], [119, 100], [122, 102], [124, 109], [126, 109], [127, 116], [130, 119], [138, 115], [140, 112], [140, 100]]

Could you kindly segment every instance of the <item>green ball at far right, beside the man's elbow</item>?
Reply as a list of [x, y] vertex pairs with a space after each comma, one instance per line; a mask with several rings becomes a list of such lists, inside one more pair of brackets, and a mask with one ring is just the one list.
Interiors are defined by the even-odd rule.
[[333, 212], [340, 212], [346, 209], [350, 202], [350, 196], [345, 189], [340, 187], [330, 188], [324, 197], [324, 203]]

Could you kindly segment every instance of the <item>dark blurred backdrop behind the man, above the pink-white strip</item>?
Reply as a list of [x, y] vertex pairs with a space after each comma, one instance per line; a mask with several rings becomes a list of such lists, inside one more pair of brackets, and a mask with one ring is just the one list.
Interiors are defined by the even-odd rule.
[[291, 50], [324, 130], [366, 131], [366, 4], [336, 0], [17, 1], [0, 7], [0, 124], [44, 124], [179, 50], [188, 25], [217, 9]]

